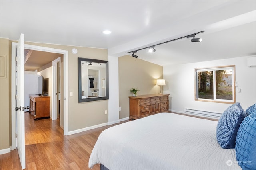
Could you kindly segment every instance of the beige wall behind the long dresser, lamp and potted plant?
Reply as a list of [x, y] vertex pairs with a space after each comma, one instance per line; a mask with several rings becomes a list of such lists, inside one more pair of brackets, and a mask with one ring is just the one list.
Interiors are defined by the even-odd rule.
[[119, 57], [119, 119], [129, 117], [130, 89], [138, 88], [137, 95], [160, 93], [156, 79], [163, 78], [163, 67], [130, 55]]

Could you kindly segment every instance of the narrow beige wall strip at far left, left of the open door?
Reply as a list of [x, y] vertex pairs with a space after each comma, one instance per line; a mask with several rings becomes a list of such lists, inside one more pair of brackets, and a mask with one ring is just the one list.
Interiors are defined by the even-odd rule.
[[[0, 39], [0, 55], [5, 57], [0, 69], [4, 69], [6, 77], [0, 78], [0, 150], [10, 148], [9, 133], [9, 39]], [[2, 65], [4, 64], [4, 65]], [[5, 68], [2, 68], [2, 67]]]

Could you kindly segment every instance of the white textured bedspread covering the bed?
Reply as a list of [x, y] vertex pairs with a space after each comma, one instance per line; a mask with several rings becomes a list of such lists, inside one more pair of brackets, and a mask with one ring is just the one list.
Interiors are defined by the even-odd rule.
[[241, 170], [235, 149], [218, 144], [216, 126], [217, 121], [173, 113], [116, 125], [98, 137], [89, 167], [101, 163], [109, 170]]

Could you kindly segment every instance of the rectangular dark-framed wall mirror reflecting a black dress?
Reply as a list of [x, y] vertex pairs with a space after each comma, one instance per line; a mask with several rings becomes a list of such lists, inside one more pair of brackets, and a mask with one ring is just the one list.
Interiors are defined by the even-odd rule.
[[78, 58], [79, 102], [108, 99], [108, 61]]

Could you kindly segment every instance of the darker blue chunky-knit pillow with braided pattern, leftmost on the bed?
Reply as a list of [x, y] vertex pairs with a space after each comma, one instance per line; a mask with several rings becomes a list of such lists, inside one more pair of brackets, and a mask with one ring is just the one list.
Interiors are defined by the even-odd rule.
[[217, 141], [222, 148], [236, 146], [237, 131], [246, 116], [240, 103], [232, 104], [222, 113], [216, 131]]

